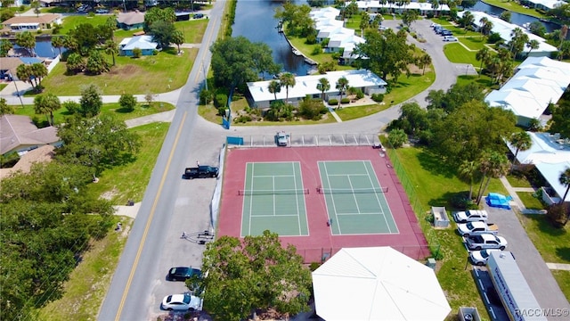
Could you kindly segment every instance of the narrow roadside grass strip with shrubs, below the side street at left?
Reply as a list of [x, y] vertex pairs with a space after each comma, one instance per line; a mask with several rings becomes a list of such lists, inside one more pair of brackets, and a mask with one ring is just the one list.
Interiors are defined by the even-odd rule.
[[[139, 102], [139, 104], [134, 108], [134, 111], [125, 111], [121, 109], [118, 103], [103, 103], [101, 112], [106, 114], [112, 113], [117, 119], [125, 121], [127, 119], [135, 119], [162, 111], [170, 111], [173, 109], [175, 109], [175, 106], [170, 103], [154, 102], [151, 103], [151, 106], [148, 106], [146, 102]], [[37, 117], [41, 120], [46, 120], [45, 115], [36, 114], [36, 111], [34, 111], [34, 105], [24, 105], [24, 108], [16, 107], [15, 114], [29, 116], [30, 118]], [[53, 121], [55, 124], [61, 124], [68, 116], [69, 111], [65, 108], [61, 108], [53, 112]]]

